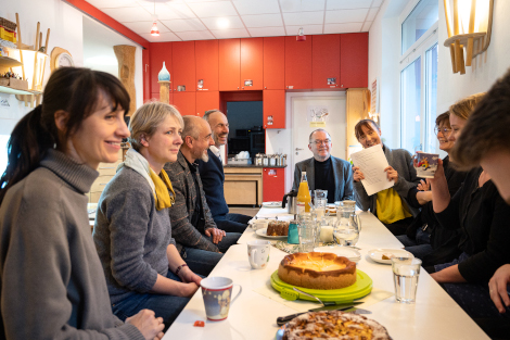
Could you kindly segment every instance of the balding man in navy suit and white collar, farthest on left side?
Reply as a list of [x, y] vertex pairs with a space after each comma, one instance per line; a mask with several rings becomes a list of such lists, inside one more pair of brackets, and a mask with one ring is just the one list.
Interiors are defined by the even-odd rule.
[[204, 119], [209, 124], [214, 139], [214, 146], [207, 150], [208, 162], [199, 161], [199, 172], [207, 204], [218, 228], [228, 232], [243, 232], [252, 217], [230, 214], [224, 194], [225, 174], [219, 148], [227, 143], [229, 122], [227, 116], [218, 110], [207, 111]]

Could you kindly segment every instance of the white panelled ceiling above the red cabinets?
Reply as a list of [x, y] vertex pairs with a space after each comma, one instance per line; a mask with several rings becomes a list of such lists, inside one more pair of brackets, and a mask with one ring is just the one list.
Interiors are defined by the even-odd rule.
[[368, 32], [383, 1], [87, 0], [152, 42]]

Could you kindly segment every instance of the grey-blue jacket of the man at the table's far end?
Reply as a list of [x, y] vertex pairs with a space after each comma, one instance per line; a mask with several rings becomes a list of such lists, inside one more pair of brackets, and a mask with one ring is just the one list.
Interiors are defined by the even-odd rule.
[[[334, 181], [336, 184], [334, 200], [353, 200], [353, 167], [350, 163], [334, 156], [331, 156], [331, 162], [333, 165]], [[302, 172], [306, 172], [308, 188], [315, 190], [314, 158], [296, 163], [294, 184], [292, 185], [292, 189], [294, 190], [297, 190], [299, 187]]]

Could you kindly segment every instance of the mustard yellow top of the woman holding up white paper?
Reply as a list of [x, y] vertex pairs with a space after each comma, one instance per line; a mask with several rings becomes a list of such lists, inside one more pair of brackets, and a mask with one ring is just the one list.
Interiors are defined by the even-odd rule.
[[393, 188], [379, 191], [375, 204], [378, 218], [385, 224], [412, 216], [406, 203], [401, 201], [398, 192]]

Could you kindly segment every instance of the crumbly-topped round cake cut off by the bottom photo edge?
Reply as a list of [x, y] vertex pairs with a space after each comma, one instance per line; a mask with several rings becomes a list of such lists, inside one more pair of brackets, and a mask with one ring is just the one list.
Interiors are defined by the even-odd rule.
[[285, 325], [282, 340], [391, 340], [386, 328], [362, 315], [341, 311], [310, 312]]

